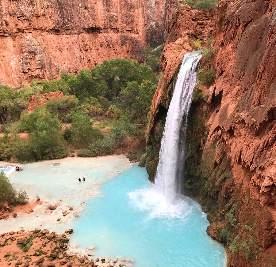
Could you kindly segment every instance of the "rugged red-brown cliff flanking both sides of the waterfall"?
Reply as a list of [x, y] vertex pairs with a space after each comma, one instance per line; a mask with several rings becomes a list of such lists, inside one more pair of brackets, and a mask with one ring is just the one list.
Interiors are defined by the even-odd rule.
[[[182, 189], [208, 213], [207, 233], [225, 245], [227, 266], [276, 266], [275, 18], [275, 0], [219, 2], [214, 40], [203, 54], [190, 109]], [[190, 28], [176, 24], [170, 36]], [[189, 51], [184, 46], [177, 51], [177, 37], [167, 39], [172, 43], [161, 57], [166, 80], [160, 79], [152, 103], [147, 138], [151, 179], [177, 68]], [[170, 55], [177, 58], [175, 64]]]

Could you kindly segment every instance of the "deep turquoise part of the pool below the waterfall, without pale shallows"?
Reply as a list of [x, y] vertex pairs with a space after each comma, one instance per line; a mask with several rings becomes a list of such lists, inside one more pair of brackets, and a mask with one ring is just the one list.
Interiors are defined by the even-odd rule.
[[143, 201], [142, 192], [155, 198], [145, 169], [134, 164], [101, 191], [73, 222], [71, 242], [80, 248], [95, 245], [95, 256], [130, 258], [139, 267], [224, 266], [224, 248], [206, 234], [208, 221], [195, 201], [185, 197], [175, 217]]

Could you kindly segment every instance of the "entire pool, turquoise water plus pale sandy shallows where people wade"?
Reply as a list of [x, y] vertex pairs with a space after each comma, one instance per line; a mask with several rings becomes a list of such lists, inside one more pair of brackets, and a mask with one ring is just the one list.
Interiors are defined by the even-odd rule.
[[[73, 228], [71, 250], [87, 254], [87, 246], [96, 246], [94, 258], [129, 258], [133, 262], [128, 265], [134, 267], [224, 266], [224, 248], [206, 234], [209, 223], [200, 205], [182, 196], [176, 211], [166, 212], [170, 205], [164, 211], [166, 203], [148, 182], [144, 168], [124, 156], [60, 162], [59, 167], [49, 161], [24, 164], [24, 172], [10, 175], [17, 190], [25, 189], [31, 199], [38, 194], [48, 202], [32, 214], [0, 221], [2, 231]], [[83, 176], [86, 182], [79, 183], [78, 177]], [[55, 203], [60, 206], [46, 214], [46, 207]], [[62, 216], [69, 206], [74, 210]]]

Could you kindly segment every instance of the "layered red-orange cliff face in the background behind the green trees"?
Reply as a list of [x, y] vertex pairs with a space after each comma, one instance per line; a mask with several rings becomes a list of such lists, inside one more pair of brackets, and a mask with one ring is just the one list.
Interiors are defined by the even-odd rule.
[[144, 46], [166, 37], [178, 0], [2, 0], [0, 82], [91, 69], [104, 59], [145, 61]]

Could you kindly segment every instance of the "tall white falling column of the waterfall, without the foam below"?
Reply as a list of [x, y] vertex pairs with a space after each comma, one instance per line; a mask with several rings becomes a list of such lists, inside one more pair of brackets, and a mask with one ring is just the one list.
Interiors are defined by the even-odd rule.
[[200, 58], [199, 52], [185, 54], [167, 113], [155, 176], [155, 184], [167, 201], [174, 201], [180, 187], [178, 181], [185, 161], [187, 118]]

